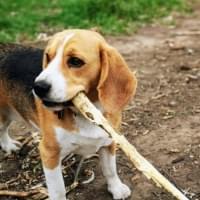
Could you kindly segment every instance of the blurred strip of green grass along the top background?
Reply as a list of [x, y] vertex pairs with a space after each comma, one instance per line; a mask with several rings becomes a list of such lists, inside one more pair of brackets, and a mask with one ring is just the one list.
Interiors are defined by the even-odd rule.
[[0, 41], [34, 39], [64, 28], [126, 33], [134, 24], [185, 8], [186, 0], [0, 0]]

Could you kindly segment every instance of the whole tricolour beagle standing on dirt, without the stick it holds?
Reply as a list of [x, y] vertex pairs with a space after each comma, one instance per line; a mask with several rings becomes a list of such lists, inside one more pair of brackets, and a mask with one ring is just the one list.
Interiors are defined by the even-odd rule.
[[[61, 161], [70, 153], [99, 153], [113, 199], [131, 191], [117, 174], [115, 143], [104, 130], [82, 117], [71, 99], [80, 91], [102, 111], [115, 129], [136, 90], [136, 77], [122, 56], [97, 32], [65, 30], [45, 50], [0, 45], [0, 145], [11, 152], [16, 141], [9, 123], [19, 114], [40, 129], [39, 145], [51, 200], [66, 200]], [[33, 91], [33, 92], [32, 92]]]

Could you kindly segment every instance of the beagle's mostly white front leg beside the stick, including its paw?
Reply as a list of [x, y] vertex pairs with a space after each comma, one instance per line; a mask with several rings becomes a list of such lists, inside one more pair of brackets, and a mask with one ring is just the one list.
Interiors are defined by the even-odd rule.
[[108, 184], [108, 191], [112, 193], [113, 199], [125, 199], [130, 196], [129, 187], [123, 184], [117, 174], [115, 144], [103, 147], [99, 151], [100, 163], [103, 175]]

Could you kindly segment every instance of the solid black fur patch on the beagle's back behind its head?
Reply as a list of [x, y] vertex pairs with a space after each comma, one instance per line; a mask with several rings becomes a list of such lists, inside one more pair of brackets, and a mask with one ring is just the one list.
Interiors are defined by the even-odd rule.
[[30, 91], [38, 74], [42, 71], [43, 50], [29, 47], [14, 49], [0, 60], [0, 72], [9, 81], [20, 83]]

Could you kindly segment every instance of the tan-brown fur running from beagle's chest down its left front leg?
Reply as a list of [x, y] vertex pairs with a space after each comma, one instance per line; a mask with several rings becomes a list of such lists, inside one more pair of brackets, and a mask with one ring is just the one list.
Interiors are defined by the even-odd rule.
[[66, 109], [63, 119], [43, 107], [40, 100], [36, 100], [36, 106], [39, 116], [39, 124], [42, 133], [42, 141], [40, 142], [40, 154], [45, 167], [54, 169], [60, 158], [60, 147], [55, 137], [54, 127], [59, 126], [71, 132], [76, 131], [76, 126], [71, 110]]

